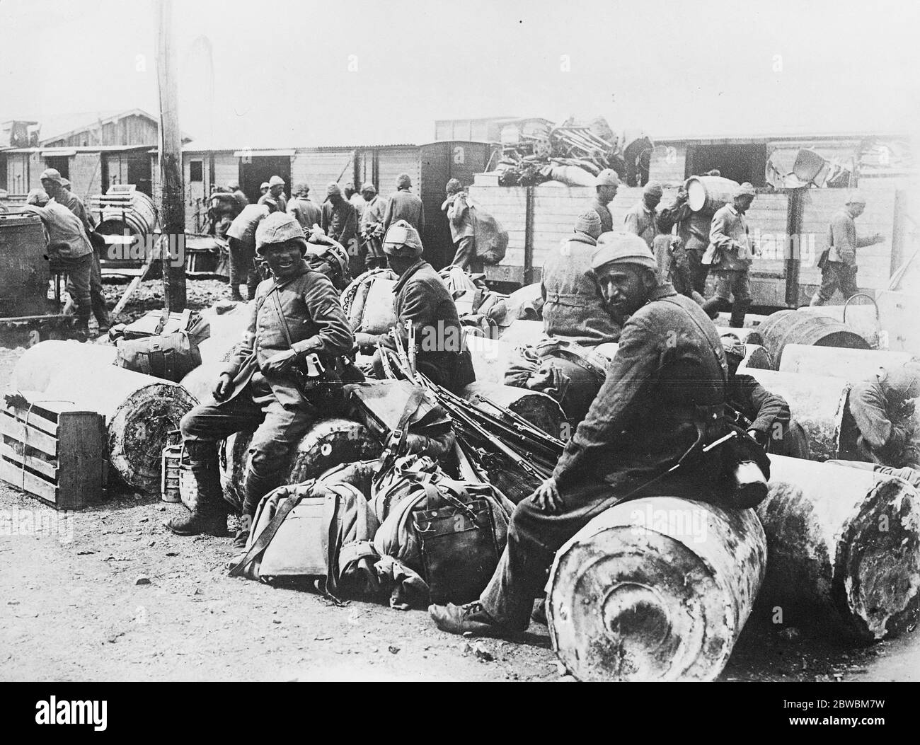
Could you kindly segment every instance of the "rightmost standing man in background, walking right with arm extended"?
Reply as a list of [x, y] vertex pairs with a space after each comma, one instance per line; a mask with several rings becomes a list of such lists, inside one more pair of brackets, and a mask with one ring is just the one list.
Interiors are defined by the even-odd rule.
[[834, 297], [840, 288], [844, 300], [858, 292], [857, 248], [874, 246], [885, 240], [880, 233], [868, 238], [857, 236], [856, 218], [866, 209], [866, 200], [859, 194], [850, 194], [844, 209], [834, 212], [827, 228], [827, 249], [822, 253], [818, 266], [821, 269], [821, 287], [811, 298], [811, 305], [824, 305]]

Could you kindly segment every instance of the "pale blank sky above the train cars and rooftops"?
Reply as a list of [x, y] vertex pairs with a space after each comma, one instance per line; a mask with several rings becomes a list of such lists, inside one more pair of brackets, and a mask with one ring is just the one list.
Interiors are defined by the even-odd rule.
[[[156, 114], [155, 2], [0, 0], [0, 121]], [[182, 0], [179, 117], [239, 148], [570, 114], [653, 138], [910, 132], [917, 29], [914, 0]]]

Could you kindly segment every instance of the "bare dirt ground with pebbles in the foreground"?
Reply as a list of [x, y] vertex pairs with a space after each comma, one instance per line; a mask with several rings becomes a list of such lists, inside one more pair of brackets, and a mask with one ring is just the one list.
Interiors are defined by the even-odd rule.
[[[21, 353], [0, 348], [0, 390]], [[230, 579], [229, 538], [162, 526], [182, 510], [116, 494], [56, 530], [0, 534], [0, 680], [571, 680], [545, 626], [520, 642], [467, 640], [421, 611]], [[4, 483], [0, 511], [20, 525], [55, 514]], [[847, 648], [752, 617], [720, 680], [920, 680], [918, 639]]]

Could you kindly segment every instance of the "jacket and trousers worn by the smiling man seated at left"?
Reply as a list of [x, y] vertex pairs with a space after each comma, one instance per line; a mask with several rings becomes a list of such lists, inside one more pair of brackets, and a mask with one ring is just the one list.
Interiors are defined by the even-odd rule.
[[354, 343], [339, 293], [306, 262], [293, 277], [259, 284], [244, 340], [223, 371], [233, 380], [229, 395], [223, 401], [194, 407], [180, 424], [187, 448], [197, 446], [196, 456], [214, 466], [219, 441], [258, 425], [249, 445], [243, 504], [249, 516], [259, 499], [277, 486], [293, 445], [323, 413], [305, 399], [289, 373], [262, 372], [272, 355], [290, 349], [273, 293], [281, 303], [298, 354], [316, 352], [331, 370], [341, 355], [351, 353]]

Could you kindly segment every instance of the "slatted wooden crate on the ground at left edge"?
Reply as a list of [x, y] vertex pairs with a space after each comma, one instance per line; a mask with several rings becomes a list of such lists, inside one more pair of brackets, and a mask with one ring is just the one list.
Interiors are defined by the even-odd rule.
[[0, 478], [58, 510], [99, 499], [106, 477], [105, 419], [66, 401], [23, 392], [29, 406], [0, 408]]

